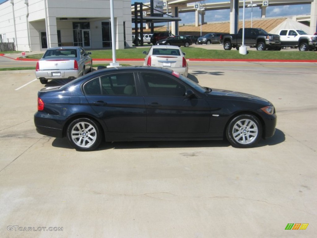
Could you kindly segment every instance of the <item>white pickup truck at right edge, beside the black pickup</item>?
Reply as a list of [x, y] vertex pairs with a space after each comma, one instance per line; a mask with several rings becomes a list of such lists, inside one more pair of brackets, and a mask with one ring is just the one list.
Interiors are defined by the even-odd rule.
[[281, 47], [298, 47], [300, 51], [315, 50], [317, 37], [303, 30], [285, 29], [279, 32]]

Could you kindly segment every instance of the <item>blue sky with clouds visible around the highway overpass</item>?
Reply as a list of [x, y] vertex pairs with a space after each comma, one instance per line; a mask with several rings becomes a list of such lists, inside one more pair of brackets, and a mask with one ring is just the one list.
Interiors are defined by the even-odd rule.
[[[6, 0], [0, 0], [0, 3]], [[216, 2], [226, 2], [229, 0], [206, 0], [201, 1], [201, 3], [216, 3]], [[131, 0], [133, 4], [134, 0]], [[137, 2], [148, 3], [150, 0], [137, 0]], [[199, 3], [199, 1], [197, 1]], [[206, 11], [204, 20], [205, 22], [219, 22], [219, 21], [229, 21], [229, 9], [226, 10], [212, 10]], [[299, 5], [285, 5], [285, 6], [270, 6], [268, 5], [266, 9], [266, 17], [284, 17], [284, 16], [294, 16], [294, 15], [305, 15], [310, 14], [310, 4], [299, 4]], [[242, 16], [242, 9], [240, 9], [239, 15]], [[180, 13], [179, 17], [182, 21], [179, 24], [189, 24], [195, 23], [195, 13]], [[252, 18], [261, 18], [261, 9], [259, 7], [252, 8]], [[245, 19], [251, 19], [251, 8], [245, 8]]]

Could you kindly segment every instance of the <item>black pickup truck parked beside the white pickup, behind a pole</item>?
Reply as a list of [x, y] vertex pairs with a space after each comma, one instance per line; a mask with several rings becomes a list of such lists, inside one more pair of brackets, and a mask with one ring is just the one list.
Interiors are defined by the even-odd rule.
[[[223, 49], [231, 50], [242, 46], [242, 28], [238, 34], [223, 35]], [[281, 50], [280, 36], [269, 34], [261, 28], [244, 28], [244, 45], [255, 46], [256, 50]]]

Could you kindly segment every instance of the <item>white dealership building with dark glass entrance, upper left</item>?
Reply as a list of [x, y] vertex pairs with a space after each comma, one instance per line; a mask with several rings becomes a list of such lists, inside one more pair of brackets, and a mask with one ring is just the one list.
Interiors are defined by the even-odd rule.
[[[0, 4], [0, 41], [19, 51], [57, 46], [112, 46], [109, 0], [7, 0]], [[131, 0], [113, 0], [116, 49], [132, 46]]]

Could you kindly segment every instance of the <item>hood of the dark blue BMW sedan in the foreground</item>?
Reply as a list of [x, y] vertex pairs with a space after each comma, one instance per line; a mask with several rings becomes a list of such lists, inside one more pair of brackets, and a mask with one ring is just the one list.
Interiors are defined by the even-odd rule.
[[237, 91], [229, 91], [229, 90], [223, 90], [223, 89], [212, 89], [210, 93], [208, 93], [208, 96], [210, 97], [225, 97], [227, 99], [232, 100], [240, 100], [240, 101], [252, 101], [252, 102], [258, 102], [258, 103], [265, 103], [265, 104], [271, 104], [268, 100], [254, 96], [247, 93], [241, 93]]

